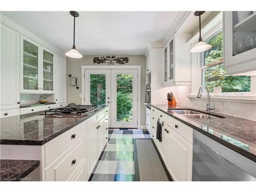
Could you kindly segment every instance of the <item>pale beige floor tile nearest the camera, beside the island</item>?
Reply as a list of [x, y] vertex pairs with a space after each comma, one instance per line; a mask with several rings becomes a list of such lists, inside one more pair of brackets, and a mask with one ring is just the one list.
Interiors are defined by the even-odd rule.
[[115, 174], [117, 161], [99, 161], [95, 174]]

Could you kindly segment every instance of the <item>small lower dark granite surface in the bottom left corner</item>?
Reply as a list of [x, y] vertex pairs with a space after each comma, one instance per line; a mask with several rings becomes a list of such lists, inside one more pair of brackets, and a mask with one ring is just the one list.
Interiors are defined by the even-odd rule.
[[39, 166], [36, 160], [0, 160], [0, 181], [21, 181]]

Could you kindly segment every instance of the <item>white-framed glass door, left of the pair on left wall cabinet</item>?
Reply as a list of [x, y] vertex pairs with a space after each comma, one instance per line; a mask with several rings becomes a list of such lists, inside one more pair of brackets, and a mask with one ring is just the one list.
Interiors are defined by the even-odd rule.
[[39, 92], [39, 45], [21, 38], [20, 90], [21, 92]]

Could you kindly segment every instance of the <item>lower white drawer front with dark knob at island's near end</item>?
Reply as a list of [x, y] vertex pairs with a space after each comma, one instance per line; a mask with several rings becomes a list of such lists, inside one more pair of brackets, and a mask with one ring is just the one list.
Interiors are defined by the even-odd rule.
[[55, 181], [67, 181], [76, 167], [85, 160], [84, 140], [81, 140], [66, 157], [53, 167]]

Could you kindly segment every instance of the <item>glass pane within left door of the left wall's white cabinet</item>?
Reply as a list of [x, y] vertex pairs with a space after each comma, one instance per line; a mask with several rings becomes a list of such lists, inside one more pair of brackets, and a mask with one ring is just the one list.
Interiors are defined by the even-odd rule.
[[23, 89], [38, 90], [38, 47], [23, 41]]

